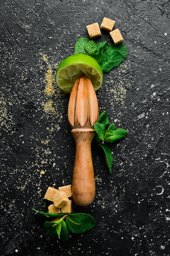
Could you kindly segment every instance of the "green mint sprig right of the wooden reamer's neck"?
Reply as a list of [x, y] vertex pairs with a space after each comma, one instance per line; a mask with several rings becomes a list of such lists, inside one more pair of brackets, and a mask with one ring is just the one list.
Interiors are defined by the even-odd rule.
[[106, 126], [109, 124], [109, 120], [107, 117], [107, 111], [104, 111], [98, 119], [98, 122], [94, 124], [94, 129], [96, 131], [95, 140], [97, 141], [97, 145], [104, 150], [106, 164], [109, 169], [109, 173], [112, 173], [112, 166], [113, 166], [113, 155], [107, 146], [104, 145], [104, 142], [115, 142], [119, 139], [124, 138], [128, 131], [122, 128], [118, 128], [115, 130], [115, 124], [110, 124], [108, 129], [106, 130]]

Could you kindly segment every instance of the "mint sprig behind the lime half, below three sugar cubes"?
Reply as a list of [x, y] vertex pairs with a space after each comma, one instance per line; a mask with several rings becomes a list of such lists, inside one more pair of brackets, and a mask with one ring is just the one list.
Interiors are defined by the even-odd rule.
[[80, 37], [75, 42], [74, 54], [86, 54], [95, 58], [102, 71], [108, 73], [126, 59], [128, 50], [124, 43], [109, 46], [107, 41], [96, 44], [89, 38]]

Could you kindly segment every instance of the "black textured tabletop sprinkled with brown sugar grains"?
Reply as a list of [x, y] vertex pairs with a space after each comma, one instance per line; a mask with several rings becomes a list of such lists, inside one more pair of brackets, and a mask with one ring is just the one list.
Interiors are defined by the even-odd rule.
[[[112, 175], [92, 148], [96, 197], [79, 211], [96, 225], [62, 243], [32, 211], [47, 211], [48, 186], [72, 180], [69, 95], [53, 78], [79, 36], [88, 37], [86, 25], [104, 17], [116, 21], [128, 57], [104, 74], [99, 112], [129, 134], [110, 144]], [[169, 0], [0, 0], [0, 255], [170, 255], [169, 36]], [[108, 32], [102, 40], [111, 43]]]

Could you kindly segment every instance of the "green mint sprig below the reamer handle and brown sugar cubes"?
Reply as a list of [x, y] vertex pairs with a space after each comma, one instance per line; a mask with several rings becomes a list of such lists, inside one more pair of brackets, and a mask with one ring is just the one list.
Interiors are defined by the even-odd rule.
[[87, 213], [44, 213], [33, 209], [46, 217], [55, 218], [53, 221], [46, 221], [44, 227], [49, 228], [47, 233], [51, 236], [57, 236], [60, 240], [66, 242], [69, 238], [69, 231], [74, 234], [81, 234], [90, 230], [95, 225], [93, 216]]

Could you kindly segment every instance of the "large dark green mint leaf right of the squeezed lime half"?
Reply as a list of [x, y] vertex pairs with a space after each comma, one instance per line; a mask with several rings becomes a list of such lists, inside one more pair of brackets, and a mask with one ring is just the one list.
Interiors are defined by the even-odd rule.
[[114, 67], [118, 67], [128, 54], [127, 47], [124, 43], [110, 45], [102, 54], [102, 60], [99, 65], [103, 72], [110, 72]]

